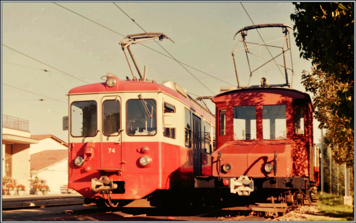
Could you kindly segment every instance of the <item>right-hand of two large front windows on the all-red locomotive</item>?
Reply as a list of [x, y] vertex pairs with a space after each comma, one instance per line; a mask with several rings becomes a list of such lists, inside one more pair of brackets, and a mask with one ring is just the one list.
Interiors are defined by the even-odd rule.
[[263, 105], [263, 139], [287, 139], [286, 105]]

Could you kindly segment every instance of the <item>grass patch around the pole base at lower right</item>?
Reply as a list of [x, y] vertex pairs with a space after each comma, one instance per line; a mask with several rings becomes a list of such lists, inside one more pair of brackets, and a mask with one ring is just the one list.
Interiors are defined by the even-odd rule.
[[[329, 217], [345, 218], [344, 221], [352, 221], [354, 214], [352, 213], [353, 207], [342, 204], [342, 196], [323, 193], [318, 195], [318, 208], [320, 213], [323, 213]], [[342, 221], [342, 220], [341, 220]]]

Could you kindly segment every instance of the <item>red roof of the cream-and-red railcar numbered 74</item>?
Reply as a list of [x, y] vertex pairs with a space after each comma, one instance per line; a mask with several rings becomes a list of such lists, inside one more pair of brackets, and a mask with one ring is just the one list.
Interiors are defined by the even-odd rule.
[[[201, 115], [209, 114], [211, 116], [214, 116], [213, 114], [210, 113], [210, 111], [202, 107], [198, 102], [196, 102], [189, 95], [187, 95], [187, 97], [184, 97], [176, 90], [173, 90], [172, 88], [169, 88], [163, 84], [143, 82], [143, 81], [122, 81], [117, 77], [115, 77], [115, 79], [117, 81], [117, 84], [114, 87], [108, 87], [105, 82], [87, 84], [69, 90], [68, 95], [114, 93], [114, 92], [164, 92], [184, 102], [193, 110], [198, 111]], [[215, 121], [212, 120], [209, 116], [206, 116], [206, 118], [209, 121], [215, 123]]]

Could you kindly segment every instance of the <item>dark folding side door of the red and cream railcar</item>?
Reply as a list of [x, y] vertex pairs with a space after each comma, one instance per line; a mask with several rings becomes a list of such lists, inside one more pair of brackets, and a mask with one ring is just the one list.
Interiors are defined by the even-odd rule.
[[201, 176], [200, 148], [201, 148], [201, 119], [193, 114], [193, 174]]

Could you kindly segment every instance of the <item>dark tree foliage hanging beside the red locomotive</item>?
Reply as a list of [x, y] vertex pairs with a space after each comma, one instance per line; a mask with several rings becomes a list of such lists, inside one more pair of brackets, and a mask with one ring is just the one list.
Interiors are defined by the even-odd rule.
[[[334, 140], [337, 163], [354, 164], [354, 2], [293, 3], [290, 18], [300, 57], [312, 73], [302, 83], [314, 94], [315, 118]], [[338, 147], [334, 146], [338, 145]]]

